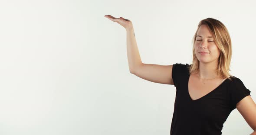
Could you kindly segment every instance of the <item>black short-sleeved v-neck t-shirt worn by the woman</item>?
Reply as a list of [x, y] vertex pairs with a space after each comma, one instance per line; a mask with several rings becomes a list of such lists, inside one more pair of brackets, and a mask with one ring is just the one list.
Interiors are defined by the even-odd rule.
[[176, 96], [170, 135], [221, 135], [236, 103], [250, 95], [250, 90], [239, 78], [231, 77], [205, 96], [192, 100], [188, 93], [189, 66], [176, 63], [172, 67]]

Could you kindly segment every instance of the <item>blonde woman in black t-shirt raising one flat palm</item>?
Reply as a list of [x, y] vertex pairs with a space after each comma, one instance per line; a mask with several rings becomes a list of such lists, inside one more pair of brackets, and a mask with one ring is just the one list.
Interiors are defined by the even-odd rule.
[[125, 27], [132, 74], [176, 87], [171, 135], [221, 135], [223, 124], [237, 109], [256, 135], [256, 104], [243, 82], [230, 75], [231, 39], [217, 19], [200, 21], [193, 42], [192, 64], [158, 65], [141, 61], [132, 23], [105, 16]]

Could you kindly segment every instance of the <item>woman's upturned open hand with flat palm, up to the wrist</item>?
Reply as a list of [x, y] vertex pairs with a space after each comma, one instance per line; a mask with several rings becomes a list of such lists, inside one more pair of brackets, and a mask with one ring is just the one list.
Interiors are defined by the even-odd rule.
[[105, 15], [104, 17], [112, 20], [113, 22], [116, 22], [118, 24], [120, 24], [121, 26], [123, 26], [126, 30], [127, 29], [131, 29], [133, 26], [132, 26], [132, 23], [130, 20], [128, 19], [125, 19], [123, 17], [119, 17], [119, 18], [115, 18], [111, 15]]

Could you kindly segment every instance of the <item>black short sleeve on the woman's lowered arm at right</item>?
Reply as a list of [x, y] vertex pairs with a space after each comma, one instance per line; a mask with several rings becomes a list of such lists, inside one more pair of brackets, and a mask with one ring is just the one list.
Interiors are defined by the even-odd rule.
[[230, 90], [230, 96], [231, 96], [231, 108], [236, 109], [236, 104], [242, 100], [244, 97], [249, 96], [251, 93], [250, 90], [248, 90], [242, 80], [239, 78], [234, 78], [233, 84]]

